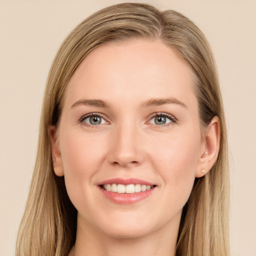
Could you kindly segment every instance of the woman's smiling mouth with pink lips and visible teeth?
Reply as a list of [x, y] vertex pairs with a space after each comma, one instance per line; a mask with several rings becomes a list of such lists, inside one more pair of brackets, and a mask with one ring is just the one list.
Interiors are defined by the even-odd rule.
[[153, 193], [156, 186], [136, 178], [114, 178], [98, 184], [103, 196], [118, 204], [130, 204], [143, 200]]

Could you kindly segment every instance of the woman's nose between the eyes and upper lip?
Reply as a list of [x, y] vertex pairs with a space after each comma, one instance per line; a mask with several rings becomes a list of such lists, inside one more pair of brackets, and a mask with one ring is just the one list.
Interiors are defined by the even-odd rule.
[[136, 125], [123, 123], [112, 130], [108, 160], [122, 167], [136, 166], [142, 163], [144, 150], [142, 137]]

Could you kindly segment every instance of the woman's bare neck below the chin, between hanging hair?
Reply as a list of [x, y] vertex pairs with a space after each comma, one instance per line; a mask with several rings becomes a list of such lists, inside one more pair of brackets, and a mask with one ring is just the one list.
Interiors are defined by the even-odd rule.
[[68, 256], [174, 256], [180, 215], [177, 221], [143, 236], [111, 237], [90, 224], [82, 224], [78, 216], [75, 245]]

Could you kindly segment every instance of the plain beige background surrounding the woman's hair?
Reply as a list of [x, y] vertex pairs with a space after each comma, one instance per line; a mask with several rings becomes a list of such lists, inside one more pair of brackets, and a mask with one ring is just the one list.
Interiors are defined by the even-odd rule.
[[[123, 1], [0, 0], [2, 256], [14, 255], [51, 61], [76, 24], [99, 8], [118, 2]], [[256, 0], [144, 2], [187, 15], [212, 46], [228, 119], [231, 255], [256, 256]]]

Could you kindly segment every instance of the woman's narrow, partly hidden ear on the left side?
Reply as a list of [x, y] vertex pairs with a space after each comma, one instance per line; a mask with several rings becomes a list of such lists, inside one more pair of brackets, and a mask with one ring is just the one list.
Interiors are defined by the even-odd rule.
[[57, 128], [54, 125], [50, 125], [48, 127], [48, 134], [50, 137], [50, 149], [51, 149], [51, 158], [53, 162], [53, 169], [54, 173], [57, 176], [63, 176], [63, 165], [62, 165], [62, 158], [59, 149], [59, 141], [57, 138]]

